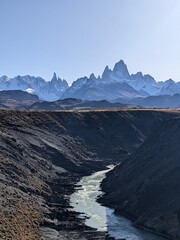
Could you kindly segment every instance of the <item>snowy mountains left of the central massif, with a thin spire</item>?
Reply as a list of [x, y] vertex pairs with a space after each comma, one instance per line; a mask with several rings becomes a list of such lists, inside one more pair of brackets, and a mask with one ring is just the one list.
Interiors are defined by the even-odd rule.
[[47, 101], [59, 99], [67, 88], [68, 83], [58, 78], [56, 73], [54, 73], [52, 80], [49, 82], [41, 77], [29, 75], [14, 78], [2, 76], [0, 78], [0, 90], [23, 90], [36, 94], [40, 99]]

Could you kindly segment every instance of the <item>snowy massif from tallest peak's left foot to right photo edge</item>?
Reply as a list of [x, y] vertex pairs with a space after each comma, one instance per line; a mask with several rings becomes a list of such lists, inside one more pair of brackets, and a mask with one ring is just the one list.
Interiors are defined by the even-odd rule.
[[126, 64], [120, 60], [113, 70], [106, 66], [101, 77], [96, 78], [91, 74], [89, 78], [76, 80], [62, 98], [112, 101], [117, 98], [133, 99], [175, 93], [180, 93], [180, 83], [173, 80], [157, 82], [152, 76], [141, 72], [130, 74]]

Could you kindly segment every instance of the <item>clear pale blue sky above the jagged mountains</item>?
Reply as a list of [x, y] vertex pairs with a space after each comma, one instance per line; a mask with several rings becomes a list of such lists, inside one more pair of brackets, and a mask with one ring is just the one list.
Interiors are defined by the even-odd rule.
[[69, 83], [123, 59], [180, 81], [179, 0], [0, 0], [0, 75]]

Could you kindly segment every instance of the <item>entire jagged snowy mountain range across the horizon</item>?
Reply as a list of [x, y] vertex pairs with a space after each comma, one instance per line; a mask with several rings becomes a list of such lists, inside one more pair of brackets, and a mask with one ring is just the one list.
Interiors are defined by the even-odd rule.
[[174, 82], [172, 79], [158, 82], [152, 76], [143, 75], [141, 72], [130, 74], [126, 64], [120, 60], [113, 70], [107, 66], [101, 77], [91, 74], [90, 77], [77, 79], [71, 86], [54, 73], [49, 82], [41, 77], [29, 75], [14, 78], [2, 76], [0, 90], [22, 90], [36, 94], [40, 100], [46, 101], [64, 98], [129, 101], [141, 97], [178, 94], [180, 82]]

